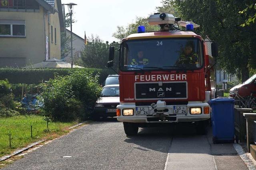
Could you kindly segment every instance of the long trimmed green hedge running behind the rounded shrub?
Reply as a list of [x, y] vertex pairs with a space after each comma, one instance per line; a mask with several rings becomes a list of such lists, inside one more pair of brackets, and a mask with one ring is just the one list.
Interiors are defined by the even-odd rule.
[[9, 80], [11, 84], [40, 84], [54, 78], [54, 74], [66, 76], [75, 70], [85, 70], [99, 74], [99, 83], [102, 84], [108, 74], [114, 74], [112, 70], [97, 68], [0, 68], [0, 80]]

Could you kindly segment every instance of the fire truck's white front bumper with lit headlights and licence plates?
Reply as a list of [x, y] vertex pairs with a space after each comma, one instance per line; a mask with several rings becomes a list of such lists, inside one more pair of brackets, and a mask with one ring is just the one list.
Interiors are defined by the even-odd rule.
[[166, 105], [158, 101], [151, 106], [136, 106], [135, 103], [123, 103], [117, 106], [120, 109], [121, 122], [133, 123], [172, 123], [194, 122], [210, 119], [210, 106], [203, 102], [188, 102], [187, 105]]

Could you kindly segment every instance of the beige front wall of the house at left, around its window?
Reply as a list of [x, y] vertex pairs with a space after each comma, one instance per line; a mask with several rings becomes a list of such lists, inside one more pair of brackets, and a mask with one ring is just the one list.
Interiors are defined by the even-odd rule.
[[43, 8], [40, 12], [0, 12], [0, 20], [25, 20], [26, 37], [0, 37], [0, 57], [25, 57], [26, 64], [44, 60]]

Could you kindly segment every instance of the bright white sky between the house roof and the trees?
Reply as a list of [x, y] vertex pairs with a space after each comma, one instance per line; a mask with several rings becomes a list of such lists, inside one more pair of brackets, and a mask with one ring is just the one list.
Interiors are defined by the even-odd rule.
[[72, 31], [83, 38], [86, 31], [86, 37], [98, 35], [109, 42], [117, 41], [112, 34], [118, 25], [127, 26], [136, 16], [147, 17], [161, 6], [161, 0], [62, 0], [62, 4], [70, 2], [77, 4]]

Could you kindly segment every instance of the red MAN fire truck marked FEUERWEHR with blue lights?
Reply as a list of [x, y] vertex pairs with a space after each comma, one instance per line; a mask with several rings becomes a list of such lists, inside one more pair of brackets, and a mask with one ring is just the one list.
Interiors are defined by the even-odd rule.
[[[121, 41], [117, 120], [126, 135], [136, 135], [139, 127], [173, 122], [193, 122], [199, 133], [207, 133], [207, 102], [215, 98], [216, 43], [192, 31], [199, 25], [172, 14], [151, 15], [149, 24], [159, 25], [160, 31], [146, 32], [139, 26], [138, 33]], [[113, 66], [114, 51], [111, 46], [108, 67]]]

